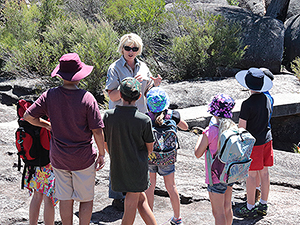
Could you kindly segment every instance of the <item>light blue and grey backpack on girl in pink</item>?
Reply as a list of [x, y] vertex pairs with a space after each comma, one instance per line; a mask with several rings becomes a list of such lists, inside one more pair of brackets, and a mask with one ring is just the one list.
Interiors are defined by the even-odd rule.
[[220, 183], [230, 184], [248, 177], [250, 158], [255, 138], [244, 128], [230, 128], [220, 137], [220, 151], [212, 156], [207, 150], [209, 184], [213, 185], [212, 173]]

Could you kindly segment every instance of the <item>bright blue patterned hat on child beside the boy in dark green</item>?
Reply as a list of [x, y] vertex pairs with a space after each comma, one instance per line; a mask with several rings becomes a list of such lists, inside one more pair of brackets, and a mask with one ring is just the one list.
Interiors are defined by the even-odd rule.
[[160, 87], [151, 88], [148, 91], [146, 98], [149, 110], [154, 113], [161, 112], [170, 105], [168, 94]]

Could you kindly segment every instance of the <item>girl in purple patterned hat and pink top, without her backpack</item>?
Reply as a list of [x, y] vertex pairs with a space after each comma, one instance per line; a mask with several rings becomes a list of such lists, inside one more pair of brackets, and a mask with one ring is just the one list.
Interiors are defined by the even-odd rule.
[[[207, 147], [212, 155], [215, 155], [220, 148], [221, 133], [232, 126], [236, 126], [230, 119], [232, 109], [235, 105], [234, 100], [226, 94], [217, 94], [209, 104], [210, 112], [216, 121], [216, 124], [205, 128], [203, 134], [199, 137], [195, 146], [195, 156], [200, 158], [204, 153], [207, 154]], [[233, 212], [231, 206], [232, 185], [220, 183], [215, 174], [212, 173], [213, 185], [209, 185], [208, 167], [205, 157], [205, 183], [208, 184], [207, 191], [211, 202], [212, 213], [215, 218], [215, 224], [232, 224]]]

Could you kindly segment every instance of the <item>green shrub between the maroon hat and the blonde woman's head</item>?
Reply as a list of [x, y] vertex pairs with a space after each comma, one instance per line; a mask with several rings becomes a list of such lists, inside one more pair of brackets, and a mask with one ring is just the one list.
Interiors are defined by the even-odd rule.
[[[78, 20], [78, 22], [84, 23], [83, 20]], [[69, 39], [74, 40], [71, 51], [77, 52], [86, 64], [94, 66], [92, 74], [85, 79], [85, 88], [98, 94], [105, 86], [108, 67], [119, 58], [118, 35], [105, 22], [96, 27], [95, 24], [86, 23], [85, 31], [82, 29], [83, 24], [81, 26], [78, 24], [76, 28], [80, 27], [81, 29], [74, 29], [69, 35]]]

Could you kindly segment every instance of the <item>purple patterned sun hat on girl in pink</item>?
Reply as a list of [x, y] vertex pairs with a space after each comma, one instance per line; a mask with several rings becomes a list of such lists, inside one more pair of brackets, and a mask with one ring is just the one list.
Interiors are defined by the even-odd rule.
[[208, 105], [208, 112], [214, 116], [231, 118], [235, 105], [233, 98], [226, 94], [217, 94]]

